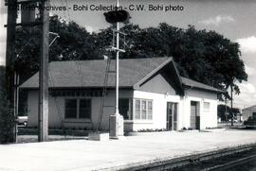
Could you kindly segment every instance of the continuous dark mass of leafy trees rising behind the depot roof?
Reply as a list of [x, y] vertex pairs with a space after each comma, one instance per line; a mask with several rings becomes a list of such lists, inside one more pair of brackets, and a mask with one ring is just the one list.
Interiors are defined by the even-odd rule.
[[[90, 34], [75, 22], [67, 23], [58, 16], [51, 17], [50, 31], [57, 32], [60, 39], [50, 47], [49, 60], [102, 59], [112, 44], [114, 27]], [[233, 85], [236, 94], [240, 93], [236, 82], [247, 80], [239, 44], [215, 31], [196, 30], [194, 26], [182, 29], [166, 23], [148, 28], [125, 24], [121, 31], [127, 35], [126, 52], [121, 53], [120, 58], [173, 57], [181, 76], [222, 90]], [[17, 32], [17, 49], [25, 49], [17, 62], [24, 81], [38, 70], [40, 30], [34, 30], [35, 36], [30, 38], [32, 41], [26, 47], [22, 45], [28, 42], [23, 36], [26, 35], [24, 30]], [[230, 98], [229, 94], [227, 96]]]

